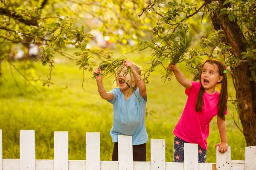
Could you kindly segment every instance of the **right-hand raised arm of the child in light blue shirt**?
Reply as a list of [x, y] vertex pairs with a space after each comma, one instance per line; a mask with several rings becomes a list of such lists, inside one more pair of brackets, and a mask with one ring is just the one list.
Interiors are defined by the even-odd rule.
[[134, 64], [132, 62], [130, 62], [128, 59], [124, 60], [124, 64], [125, 66], [128, 68], [131, 68], [131, 72], [134, 76], [135, 82], [137, 83], [137, 86], [139, 88], [139, 92], [140, 95], [143, 97], [143, 99], [145, 99], [145, 96], [147, 94], [147, 90], [146, 90], [146, 86], [145, 86], [145, 82], [143, 81], [143, 79], [141, 78], [141, 76], [137, 73], [137, 71], [135, 70]]

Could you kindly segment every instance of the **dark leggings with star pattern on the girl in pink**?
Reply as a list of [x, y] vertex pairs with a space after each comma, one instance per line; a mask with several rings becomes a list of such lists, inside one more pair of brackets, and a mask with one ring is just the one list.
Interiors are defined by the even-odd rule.
[[[183, 141], [182, 139], [174, 136], [173, 141], [173, 162], [184, 162], [184, 143], [189, 143]], [[202, 149], [198, 144], [198, 162], [206, 162], [207, 150]]]

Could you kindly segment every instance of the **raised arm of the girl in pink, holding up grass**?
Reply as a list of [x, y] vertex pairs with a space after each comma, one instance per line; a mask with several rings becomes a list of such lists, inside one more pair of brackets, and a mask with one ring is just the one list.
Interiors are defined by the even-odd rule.
[[180, 71], [177, 65], [169, 65], [169, 70], [172, 70], [177, 81], [183, 85], [184, 88], [189, 89], [192, 86], [192, 82], [186, 79], [185, 75]]

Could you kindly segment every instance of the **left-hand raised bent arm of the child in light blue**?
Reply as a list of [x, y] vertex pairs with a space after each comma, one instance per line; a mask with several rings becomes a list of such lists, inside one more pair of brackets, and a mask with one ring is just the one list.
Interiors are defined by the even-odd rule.
[[101, 96], [101, 98], [105, 99], [105, 100], [113, 100], [113, 98], [114, 98], [113, 93], [106, 92], [106, 89], [104, 88], [104, 85], [102, 82], [101, 69], [99, 67], [96, 68], [95, 71], [93, 71], [93, 74], [99, 74], [98, 76], [96, 76], [96, 82], [97, 82], [97, 86], [98, 86], [98, 92], [99, 92], [99, 95]]

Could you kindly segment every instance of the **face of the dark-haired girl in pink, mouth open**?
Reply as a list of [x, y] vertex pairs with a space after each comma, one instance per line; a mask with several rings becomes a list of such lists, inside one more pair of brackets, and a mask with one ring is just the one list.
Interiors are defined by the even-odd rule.
[[201, 84], [208, 94], [215, 92], [216, 85], [221, 82], [223, 76], [218, 73], [218, 66], [216, 64], [210, 64], [206, 62], [204, 64], [201, 74]]

